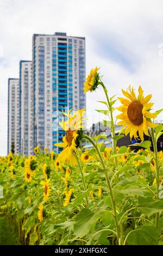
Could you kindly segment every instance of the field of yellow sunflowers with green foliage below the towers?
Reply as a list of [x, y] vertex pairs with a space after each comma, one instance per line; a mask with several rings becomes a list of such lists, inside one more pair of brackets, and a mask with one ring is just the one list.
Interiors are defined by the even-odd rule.
[[[105, 115], [112, 143], [107, 137], [84, 133], [85, 111], [63, 113], [59, 123], [65, 136], [60, 154], [34, 149], [34, 155], [0, 157], [0, 218], [5, 218], [21, 245], [163, 245], [163, 153], [157, 150], [162, 124], [153, 113], [152, 95], [138, 95], [128, 87], [125, 98], [110, 97], [99, 75], [92, 69], [84, 92], [102, 87]], [[115, 102], [122, 126], [115, 135]], [[141, 140], [117, 147], [124, 135]], [[151, 141], [144, 141], [144, 134]], [[103, 139], [103, 142], [99, 142]], [[92, 145], [84, 149], [85, 142]], [[154, 151], [151, 150], [153, 144]], [[132, 147], [132, 148], [133, 148]], [[1, 189], [2, 190], [2, 189]]]

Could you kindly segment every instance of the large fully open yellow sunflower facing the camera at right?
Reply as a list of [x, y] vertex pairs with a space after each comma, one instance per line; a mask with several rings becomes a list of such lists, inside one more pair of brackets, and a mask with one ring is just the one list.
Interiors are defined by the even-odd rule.
[[153, 103], [149, 102], [152, 95], [149, 94], [144, 97], [141, 86], [138, 91], [139, 96], [136, 97], [134, 89], [130, 86], [127, 91], [122, 89], [123, 95], [128, 99], [124, 99], [122, 97], [118, 98], [123, 105], [117, 109], [123, 113], [117, 115], [116, 118], [122, 119], [122, 121], [118, 123], [118, 125], [122, 125], [122, 130], [127, 126], [125, 131], [126, 136], [130, 133], [130, 139], [133, 138], [133, 136], [137, 139], [137, 132], [139, 132], [139, 137], [141, 141], [143, 141], [143, 133], [149, 136], [148, 127], [153, 128], [157, 125], [151, 122], [151, 118], [156, 118], [156, 115], [149, 112], [153, 106]]

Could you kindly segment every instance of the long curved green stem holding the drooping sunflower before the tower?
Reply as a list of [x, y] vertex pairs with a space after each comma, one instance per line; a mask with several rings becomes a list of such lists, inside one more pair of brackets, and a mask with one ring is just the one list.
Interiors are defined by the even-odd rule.
[[115, 205], [115, 198], [114, 198], [114, 194], [112, 192], [112, 187], [111, 187], [111, 184], [110, 184], [110, 180], [109, 180], [109, 176], [108, 176], [108, 171], [106, 169], [103, 157], [102, 157], [101, 152], [99, 151], [96, 143], [87, 135], [84, 135], [84, 138], [87, 139], [87, 141], [89, 141], [93, 145], [93, 147], [96, 149], [97, 154], [99, 156], [99, 159], [100, 159], [100, 161], [102, 163], [102, 166], [103, 166], [103, 169], [104, 169], [104, 173], [105, 173], [106, 182], [108, 184], [108, 188], [109, 188], [109, 192], [110, 192], [112, 210], [114, 212], [114, 221], [115, 221], [115, 226], [116, 226], [116, 231], [117, 231], [117, 240], [118, 240], [118, 244], [120, 244], [120, 241], [121, 241], [120, 226], [118, 224], [117, 211], [116, 211], [116, 205]]

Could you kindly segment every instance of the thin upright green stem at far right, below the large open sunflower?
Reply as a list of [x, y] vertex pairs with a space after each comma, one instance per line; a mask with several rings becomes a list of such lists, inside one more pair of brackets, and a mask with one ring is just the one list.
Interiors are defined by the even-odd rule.
[[[157, 150], [157, 142], [154, 135], [154, 129], [151, 128], [151, 136], [152, 136], [152, 142], [153, 142], [153, 148], [154, 148], [154, 155], [155, 155], [155, 170], [156, 170], [156, 198], [159, 199], [159, 185], [160, 185], [160, 174], [159, 174], [159, 161], [158, 161], [158, 150]], [[155, 226], [156, 228], [159, 228], [159, 218], [160, 213], [156, 213], [156, 220], [155, 220]]]

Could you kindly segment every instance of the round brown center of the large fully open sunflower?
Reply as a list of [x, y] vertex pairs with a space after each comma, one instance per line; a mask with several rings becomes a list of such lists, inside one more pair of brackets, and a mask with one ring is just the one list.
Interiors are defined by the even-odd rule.
[[143, 105], [139, 100], [131, 102], [128, 106], [127, 114], [134, 125], [141, 125], [143, 123], [142, 109]]

